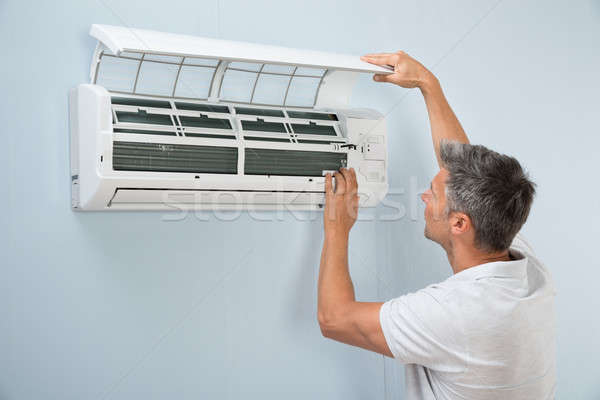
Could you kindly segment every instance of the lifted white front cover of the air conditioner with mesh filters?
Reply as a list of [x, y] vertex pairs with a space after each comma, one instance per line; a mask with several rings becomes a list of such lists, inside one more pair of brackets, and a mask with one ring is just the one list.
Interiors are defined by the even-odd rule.
[[107, 25], [91, 34], [100, 41], [92, 83], [123, 94], [334, 107], [347, 103], [358, 72], [389, 72], [357, 56]]

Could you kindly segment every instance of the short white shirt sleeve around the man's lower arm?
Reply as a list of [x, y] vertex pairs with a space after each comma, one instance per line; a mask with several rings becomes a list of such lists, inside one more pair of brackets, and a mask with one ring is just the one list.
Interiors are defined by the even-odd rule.
[[379, 320], [399, 361], [459, 372], [468, 361], [459, 310], [447, 289], [432, 285], [385, 302]]

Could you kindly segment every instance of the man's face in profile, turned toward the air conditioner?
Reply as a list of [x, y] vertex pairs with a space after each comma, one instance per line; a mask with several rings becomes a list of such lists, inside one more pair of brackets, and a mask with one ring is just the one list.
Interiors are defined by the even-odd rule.
[[425, 203], [425, 237], [441, 244], [450, 243], [450, 225], [446, 215], [446, 180], [448, 170], [442, 168], [422, 195]]

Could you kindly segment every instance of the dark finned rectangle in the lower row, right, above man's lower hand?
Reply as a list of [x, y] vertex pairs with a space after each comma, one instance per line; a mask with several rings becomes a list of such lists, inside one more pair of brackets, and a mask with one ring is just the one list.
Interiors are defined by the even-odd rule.
[[246, 175], [323, 176], [323, 171], [346, 166], [345, 153], [245, 149]]

